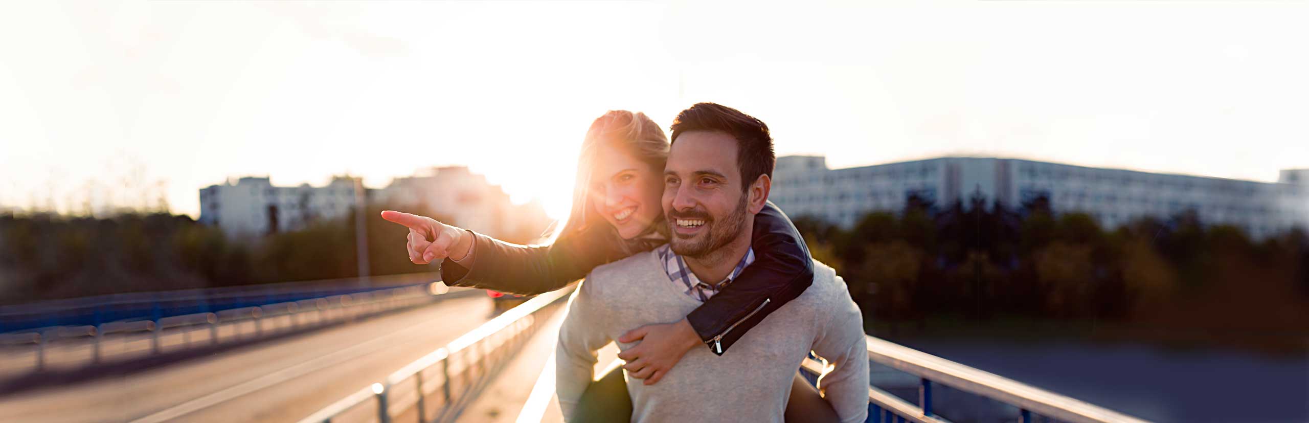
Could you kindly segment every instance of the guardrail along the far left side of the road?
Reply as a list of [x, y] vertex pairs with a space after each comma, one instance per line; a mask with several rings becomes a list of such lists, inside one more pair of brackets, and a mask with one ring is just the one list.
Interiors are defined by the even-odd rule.
[[[480, 289], [454, 288], [453, 295]], [[0, 380], [42, 371], [77, 371], [160, 354], [215, 347], [308, 330], [425, 304], [452, 291], [442, 283], [247, 306], [216, 313], [55, 326], [0, 334]]]

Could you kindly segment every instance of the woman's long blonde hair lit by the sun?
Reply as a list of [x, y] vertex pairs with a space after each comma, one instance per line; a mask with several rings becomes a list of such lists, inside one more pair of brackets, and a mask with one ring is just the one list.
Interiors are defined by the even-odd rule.
[[[605, 115], [596, 118], [590, 123], [590, 128], [586, 130], [586, 138], [581, 143], [581, 152], [577, 155], [577, 179], [573, 185], [573, 202], [572, 210], [568, 213], [568, 221], [555, 230], [554, 236], [551, 236], [552, 241], [586, 232], [594, 225], [607, 225], [598, 216], [589, 200], [592, 170], [601, 147], [610, 147], [624, 152], [656, 169], [658, 173], [662, 173], [664, 164], [668, 161], [668, 136], [644, 113], [610, 110]], [[654, 204], [654, 207], [661, 206]], [[662, 215], [660, 213], [660, 219], [651, 223], [651, 228], [643, 234], [654, 230], [664, 234], [664, 238], [668, 238], [668, 227], [664, 224]], [[644, 240], [623, 240], [613, 227], [607, 228], [606, 232], [611, 234], [611, 241], [618, 244], [619, 249], [628, 255], [648, 250], [656, 246], [654, 244], [660, 244]]]

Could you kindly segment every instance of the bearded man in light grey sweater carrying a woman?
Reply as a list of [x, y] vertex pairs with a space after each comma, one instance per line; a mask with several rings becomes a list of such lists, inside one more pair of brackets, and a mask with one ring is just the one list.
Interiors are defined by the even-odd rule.
[[[571, 416], [594, 377], [596, 351], [627, 330], [679, 320], [750, 266], [753, 216], [771, 187], [772, 139], [759, 119], [698, 103], [678, 114], [664, 174], [672, 240], [594, 268], [573, 293], [555, 352], [556, 390]], [[762, 305], [761, 305], [762, 306]], [[635, 343], [619, 342], [627, 350]], [[692, 350], [645, 385], [628, 377], [635, 422], [781, 422], [800, 363], [834, 364], [818, 382], [842, 422], [868, 414], [868, 352], [846, 283], [814, 262], [814, 280], [721, 358]], [[640, 372], [640, 360], [628, 372]]]

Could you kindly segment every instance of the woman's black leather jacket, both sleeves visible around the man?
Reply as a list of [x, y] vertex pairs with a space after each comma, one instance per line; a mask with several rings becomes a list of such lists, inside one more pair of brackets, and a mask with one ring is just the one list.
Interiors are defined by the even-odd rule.
[[[560, 236], [547, 246], [524, 246], [475, 234], [473, 268], [454, 261], [441, 263], [441, 279], [452, 287], [474, 287], [535, 295], [586, 276], [592, 268], [624, 257], [603, 230]], [[750, 244], [755, 261], [732, 284], [687, 314], [691, 327], [717, 355], [742, 334], [813, 283], [813, 262], [800, 232], [772, 202], [754, 217]]]

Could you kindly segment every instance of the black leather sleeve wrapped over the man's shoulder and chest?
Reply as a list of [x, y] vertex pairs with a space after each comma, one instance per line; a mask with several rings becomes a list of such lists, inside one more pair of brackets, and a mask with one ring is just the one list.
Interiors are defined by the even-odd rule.
[[796, 225], [772, 202], [755, 215], [750, 240], [754, 263], [686, 316], [700, 339], [717, 355], [813, 284], [809, 248]]

